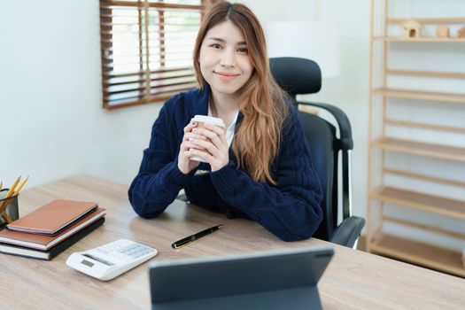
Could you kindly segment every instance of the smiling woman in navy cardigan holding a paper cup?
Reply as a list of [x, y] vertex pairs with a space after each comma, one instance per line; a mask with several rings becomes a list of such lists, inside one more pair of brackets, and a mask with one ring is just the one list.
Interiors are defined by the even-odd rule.
[[[312, 236], [321, 185], [297, 112], [270, 74], [258, 19], [243, 4], [214, 4], [193, 58], [200, 88], [159, 112], [129, 188], [136, 213], [158, 216], [184, 189], [192, 204], [252, 219], [282, 240]], [[221, 118], [226, 129], [198, 128], [196, 114]]]

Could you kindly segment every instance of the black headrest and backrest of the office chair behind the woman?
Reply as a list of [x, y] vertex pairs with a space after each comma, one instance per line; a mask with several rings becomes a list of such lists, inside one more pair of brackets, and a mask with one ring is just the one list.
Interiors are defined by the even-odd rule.
[[[270, 58], [270, 69], [277, 83], [290, 94], [297, 106], [296, 95], [320, 91], [322, 74], [320, 67], [305, 58]], [[324, 105], [324, 104], [315, 104]], [[322, 182], [323, 221], [315, 237], [329, 240], [337, 228], [337, 155], [340, 140], [337, 128], [318, 115], [298, 112], [306, 142], [314, 163], [314, 169]]]

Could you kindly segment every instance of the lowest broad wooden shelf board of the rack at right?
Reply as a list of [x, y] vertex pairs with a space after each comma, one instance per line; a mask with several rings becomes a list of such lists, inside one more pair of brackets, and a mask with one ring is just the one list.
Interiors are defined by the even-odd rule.
[[465, 276], [465, 267], [461, 263], [461, 252], [387, 234], [379, 236], [379, 239], [371, 244], [370, 249], [372, 252], [399, 260], [453, 275]]

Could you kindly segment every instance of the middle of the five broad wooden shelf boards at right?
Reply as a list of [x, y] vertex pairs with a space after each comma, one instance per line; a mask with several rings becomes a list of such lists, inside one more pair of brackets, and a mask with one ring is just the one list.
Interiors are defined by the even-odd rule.
[[439, 159], [465, 161], [465, 148], [408, 140], [379, 138], [371, 145], [388, 151], [429, 156]]

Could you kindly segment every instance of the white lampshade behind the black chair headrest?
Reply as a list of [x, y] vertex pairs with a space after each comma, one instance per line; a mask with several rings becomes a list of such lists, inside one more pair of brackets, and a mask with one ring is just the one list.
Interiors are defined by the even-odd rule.
[[300, 57], [314, 60], [323, 78], [340, 74], [339, 32], [334, 24], [308, 21], [267, 23], [268, 57]]

